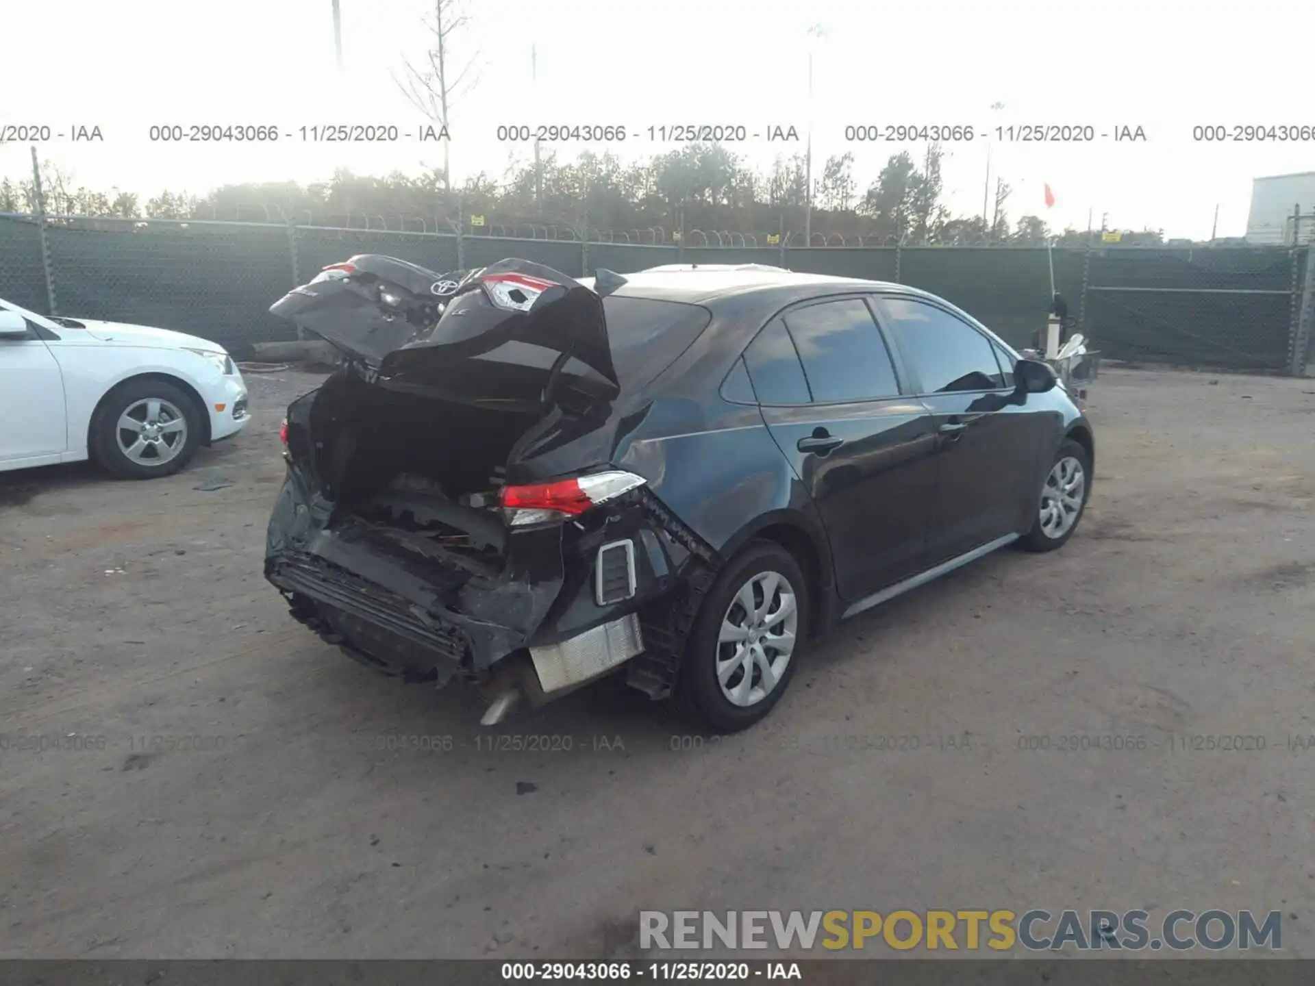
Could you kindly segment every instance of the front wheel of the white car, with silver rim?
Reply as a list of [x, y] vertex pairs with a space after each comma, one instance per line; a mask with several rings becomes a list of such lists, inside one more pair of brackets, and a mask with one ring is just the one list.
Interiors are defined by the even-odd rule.
[[176, 384], [129, 380], [97, 409], [92, 454], [120, 479], [172, 476], [196, 454], [201, 426], [196, 401]]

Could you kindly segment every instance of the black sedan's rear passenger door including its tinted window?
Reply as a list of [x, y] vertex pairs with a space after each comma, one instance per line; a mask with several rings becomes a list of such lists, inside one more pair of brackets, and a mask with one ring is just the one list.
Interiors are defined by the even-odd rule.
[[818, 505], [842, 597], [861, 599], [923, 564], [935, 492], [930, 411], [860, 296], [773, 318], [744, 352], [763, 418]]

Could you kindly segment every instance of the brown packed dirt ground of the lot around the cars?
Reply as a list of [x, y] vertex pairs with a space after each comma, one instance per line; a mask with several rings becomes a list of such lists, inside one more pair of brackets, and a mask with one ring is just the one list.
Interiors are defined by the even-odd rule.
[[168, 480], [0, 476], [0, 956], [626, 957], [640, 910], [897, 907], [1282, 910], [1315, 956], [1315, 381], [1106, 371], [1063, 551], [849, 621], [739, 736], [606, 682], [492, 734], [552, 752], [264, 582], [316, 383], [249, 377]]

